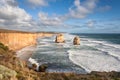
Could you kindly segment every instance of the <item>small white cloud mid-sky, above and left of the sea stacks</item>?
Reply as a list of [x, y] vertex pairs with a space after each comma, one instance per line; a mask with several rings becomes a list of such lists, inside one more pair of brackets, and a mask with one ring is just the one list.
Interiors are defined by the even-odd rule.
[[46, 26], [60, 26], [62, 25], [62, 20], [58, 16], [48, 16], [48, 14], [39, 12], [38, 14], [41, 24]]

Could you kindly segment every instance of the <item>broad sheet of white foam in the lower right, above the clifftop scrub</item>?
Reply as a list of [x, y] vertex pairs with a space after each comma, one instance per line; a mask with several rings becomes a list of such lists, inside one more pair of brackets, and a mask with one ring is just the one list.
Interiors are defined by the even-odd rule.
[[69, 50], [69, 58], [86, 71], [120, 71], [120, 61], [105, 55], [103, 52], [91, 50]]

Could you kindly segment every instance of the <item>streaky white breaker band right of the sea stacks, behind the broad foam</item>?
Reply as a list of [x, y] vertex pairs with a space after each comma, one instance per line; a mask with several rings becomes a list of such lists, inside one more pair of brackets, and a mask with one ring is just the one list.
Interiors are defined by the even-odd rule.
[[118, 44], [112, 44], [106, 41], [97, 41], [95, 39], [88, 39], [84, 45], [94, 47], [103, 52], [107, 52], [108, 54], [120, 59], [120, 45]]

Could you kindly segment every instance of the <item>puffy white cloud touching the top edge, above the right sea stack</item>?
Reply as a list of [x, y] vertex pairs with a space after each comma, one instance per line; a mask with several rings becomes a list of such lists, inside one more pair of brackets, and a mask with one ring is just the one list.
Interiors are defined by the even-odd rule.
[[73, 18], [85, 18], [88, 14], [93, 12], [97, 1], [98, 0], [86, 0], [80, 2], [80, 0], [75, 0], [74, 6], [69, 8], [69, 16]]

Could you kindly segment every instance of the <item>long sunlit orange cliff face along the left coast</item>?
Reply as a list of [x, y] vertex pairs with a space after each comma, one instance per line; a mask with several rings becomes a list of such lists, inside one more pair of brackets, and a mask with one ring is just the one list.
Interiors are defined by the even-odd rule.
[[52, 33], [30, 33], [17, 31], [0, 31], [0, 42], [11, 50], [18, 50], [29, 45], [35, 45], [38, 37], [49, 37]]

